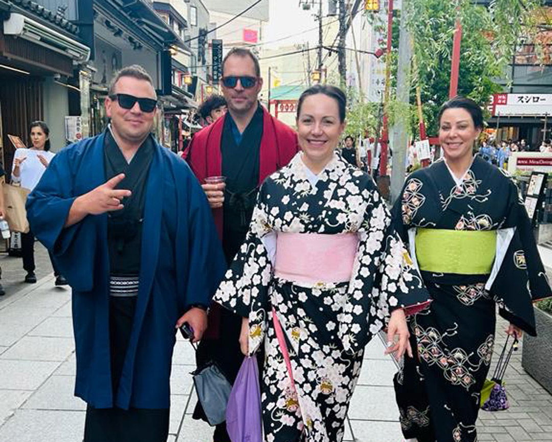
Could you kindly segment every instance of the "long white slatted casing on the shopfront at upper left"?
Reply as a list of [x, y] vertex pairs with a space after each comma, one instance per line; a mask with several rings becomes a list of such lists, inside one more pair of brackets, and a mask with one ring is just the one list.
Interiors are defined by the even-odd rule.
[[88, 46], [23, 14], [10, 14], [9, 19], [4, 21], [4, 34], [19, 36], [52, 51], [68, 55], [76, 63], [83, 63], [90, 58], [90, 48]]

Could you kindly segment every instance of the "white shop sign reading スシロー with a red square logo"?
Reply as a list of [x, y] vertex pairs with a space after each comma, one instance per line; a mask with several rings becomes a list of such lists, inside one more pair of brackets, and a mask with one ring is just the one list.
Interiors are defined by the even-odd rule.
[[496, 93], [492, 100], [492, 114], [501, 117], [519, 115], [552, 115], [550, 93]]

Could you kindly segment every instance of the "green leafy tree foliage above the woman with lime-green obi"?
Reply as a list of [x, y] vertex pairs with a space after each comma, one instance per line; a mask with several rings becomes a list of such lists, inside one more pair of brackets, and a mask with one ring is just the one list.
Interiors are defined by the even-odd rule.
[[[535, 35], [539, 0], [491, 0], [488, 7], [470, 0], [408, 0], [406, 19], [412, 33], [418, 71], [413, 87], [421, 86], [426, 127], [437, 133], [437, 113], [447, 101], [452, 41], [457, 18], [462, 24], [458, 94], [489, 104], [501, 92], [497, 78], [506, 76], [515, 43]], [[412, 96], [412, 102], [415, 97]]]

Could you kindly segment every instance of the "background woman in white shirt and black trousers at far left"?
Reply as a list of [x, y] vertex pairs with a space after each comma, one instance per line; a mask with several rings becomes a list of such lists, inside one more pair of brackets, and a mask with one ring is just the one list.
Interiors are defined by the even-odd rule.
[[[30, 125], [30, 135], [32, 146], [29, 149], [17, 149], [13, 157], [12, 182], [20, 183], [21, 187], [32, 191], [40, 181], [46, 167], [54, 157], [50, 152], [50, 129], [43, 121], [35, 121]], [[34, 234], [29, 230], [28, 233], [21, 234], [21, 252], [23, 255], [23, 269], [27, 272], [25, 282], [35, 283], [35, 262], [34, 262]], [[67, 281], [57, 272], [57, 267], [50, 255], [54, 275], [56, 276], [56, 286], [66, 285]]]

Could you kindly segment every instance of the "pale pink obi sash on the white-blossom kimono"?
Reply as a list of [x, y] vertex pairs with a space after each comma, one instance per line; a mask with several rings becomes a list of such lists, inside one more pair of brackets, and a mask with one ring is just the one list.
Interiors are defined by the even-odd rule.
[[348, 282], [357, 249], [354, 233], [278, 232], [274, 275], [307, 287]]

